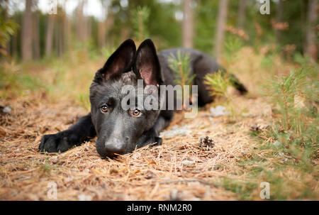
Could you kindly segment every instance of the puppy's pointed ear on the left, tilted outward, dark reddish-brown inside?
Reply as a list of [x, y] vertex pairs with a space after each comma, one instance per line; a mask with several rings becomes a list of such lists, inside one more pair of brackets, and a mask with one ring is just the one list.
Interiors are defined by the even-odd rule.
[[134, 41], [131, 39], [125, 40], [111, 57], [108, 57], [103, 68], [99, 70], [103, 78], [111, 79], [122, 75], [123, 72], [130, 71], [135, 52], [136, 47]]

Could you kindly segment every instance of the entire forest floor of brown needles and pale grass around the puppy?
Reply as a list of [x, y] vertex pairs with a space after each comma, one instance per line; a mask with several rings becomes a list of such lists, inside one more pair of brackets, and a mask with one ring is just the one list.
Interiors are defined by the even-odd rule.
[[[245, 52], [242, 55], [247, 61], [240, 65], [254, 71], [259, 62]], [[74, 95], [87, 97], [93, 77], [88, 71], [96, 71], [102, 61], [86, 64], [84, 69], [83, 65], [72, 67], [69, 75], [60, 65], [53, 69], [8, 65], [11, 70], [32, 71], [33, 77], [43, 71], [40, 82], [48, 84], [46, 90], [26, 87], [19, 89], [23, 93], [14, 93], [17, 83], [13, 81], [13, 87], [2, 92], [0, 105], [10, 106], [11, 111], [0, 114], [0, 200], [262, 200], [260, 183], [265, 180], [273, 180], [269, 181], [271, 199], [319, 199], [318, 160], [311, 170], [303, 171], [291, 165], [295, 161], [288, 155], [261, 148], [261, 140], [252, 135], [252, 130], [267, 129], [276, 116], [253, 87], [260, 75], [252, 77], [249, 72], [237, 74], [252, 93], [233, 97], [241, 114], [231, 121], [229, 116], [213, 116], [210, 107], [217, 104], [212, 103], [201, 108], [196, 118], [175, 114], [165, 130], [184, 128], [186, 132], [164, 136], [162, 145], [114, 159], [100, 158], [95, 139], [65, 153], [38, 153], [43, 135], [62, 131], [87, 114], [87, 100]], [[247, 69], [234, 65], [237, 71]], [[55, 71], [55, 77], [47, 77]], [[74, 82], [71, 88], [65, 88], [65, 80]], [[51, 82], [55, 87], [50, 87]], [[198, 139], [205, 136], [213, 139], [213, 146], [199, 144]], [[55, 184], [57, 199], [52, 199]]]

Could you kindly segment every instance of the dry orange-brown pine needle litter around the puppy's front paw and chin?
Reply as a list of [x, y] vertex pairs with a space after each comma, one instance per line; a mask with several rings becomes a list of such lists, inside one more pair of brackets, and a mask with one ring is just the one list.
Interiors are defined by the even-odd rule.
[[[218, 182], [257, 144], [247, 134], [250, 128], [267, 124], [258, 111], [263, 106], [260, 99], [237, 98], [236, 104], [250, 108], [248, 117], [229, 124], [226, 116], [213, 117], [206, 109], [196, 118], [179, 113], [166, 131], [187, 126], [187, 133], [163, 138], [160, 146], [105, 160], [96, 152], [95, 140], [65, 153], [38, 153], [41, 136], [66, 129], [86, 114], [85, 109], [38, 97], [3, 103], [10, 104], [12, 111], [1, 115], [2, 200], [47, 200], [50, 182], [57, 184], [58, 200], [237, 199]], [[199, 145], [204, 136], [213, 138], [212, 147]]]

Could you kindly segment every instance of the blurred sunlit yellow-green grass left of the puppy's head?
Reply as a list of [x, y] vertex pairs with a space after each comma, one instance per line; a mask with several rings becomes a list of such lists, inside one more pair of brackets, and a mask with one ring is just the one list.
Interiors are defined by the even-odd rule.
[[[108, 52], [104, 50], [104, 53]], [[24, 96], [41, 91], [52, 101], [67, 99], [89, 110], [89, 86], [106, 57], [102, 55], [92, 60], [88, 56], [77, 55], [66, 58], [23, 64], [14, 61], [4, 63], [0, 68], [1, 97]]]

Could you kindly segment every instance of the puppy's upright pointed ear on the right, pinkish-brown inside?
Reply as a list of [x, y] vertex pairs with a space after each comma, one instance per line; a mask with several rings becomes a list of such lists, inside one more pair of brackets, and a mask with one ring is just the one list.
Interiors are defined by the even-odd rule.
[[146, 85], [162, 84], [161, 69], [152, 40], [144, 40], [135, 54], [133, 71]]

